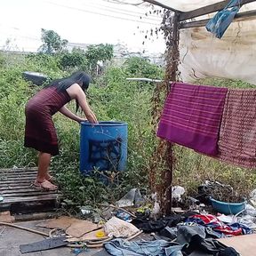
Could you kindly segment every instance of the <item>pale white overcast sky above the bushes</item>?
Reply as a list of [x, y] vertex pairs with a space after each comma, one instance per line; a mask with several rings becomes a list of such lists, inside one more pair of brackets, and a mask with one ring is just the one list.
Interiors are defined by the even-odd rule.
[[36, 52], [44, 28], [69, 43], [120, 43], [131, 52], [163, 53], [162, 35], [145, 40], [146, 31], [161, 24], [161, 17], [149, 11], [152, 7], [108, 0], [0, 0], [0, 49]]

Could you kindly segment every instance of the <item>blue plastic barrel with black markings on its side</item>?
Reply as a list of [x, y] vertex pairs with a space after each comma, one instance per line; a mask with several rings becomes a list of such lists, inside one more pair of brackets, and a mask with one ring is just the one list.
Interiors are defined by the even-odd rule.
[[127, 133], [127, 124], [123, 122], [81, 123], [80, 172], [124, 171]]

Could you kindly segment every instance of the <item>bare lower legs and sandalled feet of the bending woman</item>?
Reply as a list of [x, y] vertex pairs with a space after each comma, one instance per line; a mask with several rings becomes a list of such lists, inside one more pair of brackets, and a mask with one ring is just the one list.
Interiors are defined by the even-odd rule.
[[40, 186], [41, 188], [54, 190], [54, 189], [57, 189], [58, 187], [53, 185], [50, 181], [48, 181], [50, 176], [48, 174], [50, 163], [51, 163], [51, 154], [39, 152], [38, 172], [37, 172], [35, 185]]

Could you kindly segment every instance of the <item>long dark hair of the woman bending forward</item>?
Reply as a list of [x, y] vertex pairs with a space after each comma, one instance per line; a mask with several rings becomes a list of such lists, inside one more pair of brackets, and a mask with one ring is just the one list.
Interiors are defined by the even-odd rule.
[[[53, 80], [52, 83], [48, 84], [46, 87], [54, 86], [59, 92], [64, 92], [72, 84], [82, 84], [81, 88], [85, 92], [88, 89], [91, 78], [84, 71], [78, 71], [71, 76]], [[76, 112], [79, 108], [78, 101], [76, 100]]]

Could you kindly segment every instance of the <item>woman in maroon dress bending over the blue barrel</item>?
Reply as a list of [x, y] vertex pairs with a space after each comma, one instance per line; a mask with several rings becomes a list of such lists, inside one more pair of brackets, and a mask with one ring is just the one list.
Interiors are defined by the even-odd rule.
[[98, 123], [96, 116], [86, 101], [84, 93], [89, 83], [89, 76], [84, 72], [76, 72], [68, 78], [53, 81], [28, 100], [25, 109], [24, 146], [35, 148], [39, 152], [38, 172], [34, 182], [37, 188], [47, 190], [56, 190], [58, 188], [52, 184], [52, 177], [48, 173], [51, 156], [59, 154], [58, 139], [52, 116], [59, 111], [78, 123], [84, 121], [83, 118], [76, 116], [65, 107], [70, 100], [76, 100], [76, 111], [80, 106], [89, 122]]

